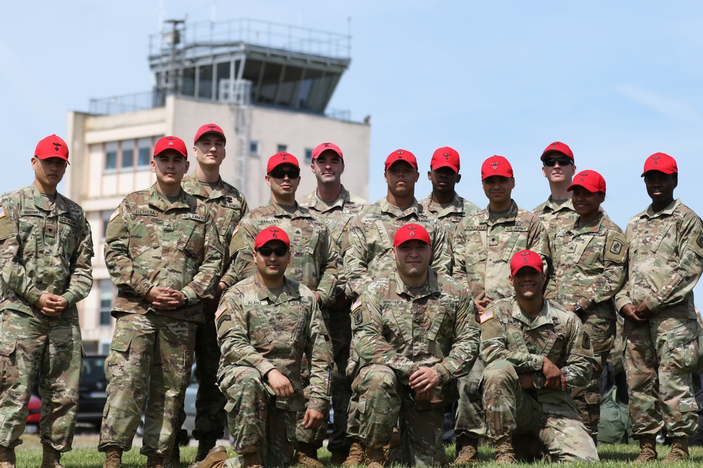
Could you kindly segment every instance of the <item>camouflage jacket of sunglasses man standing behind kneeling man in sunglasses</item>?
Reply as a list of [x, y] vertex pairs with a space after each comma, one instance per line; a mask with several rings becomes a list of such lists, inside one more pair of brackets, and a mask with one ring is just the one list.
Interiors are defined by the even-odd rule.
[[325, 222], [299, 205], [290, 212], [269, 200], [242, 218], [230, 246], [231, 252], [236, 252], [230, 267], [231, 277], [241, 281], [254, 276], [257, 270], [254, 241], [259, 232], [269, 226], [280, 227], [290, 239], [292, 256], [286, 276], [316, 291], [323, 305], [329, 304], [335, 294], [340, 251]]

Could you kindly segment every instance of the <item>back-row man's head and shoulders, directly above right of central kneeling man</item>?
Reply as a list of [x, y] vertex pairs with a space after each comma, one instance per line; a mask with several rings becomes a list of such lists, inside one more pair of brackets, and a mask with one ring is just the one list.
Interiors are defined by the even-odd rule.
[[461, 180], [459, 168], [456, 149], [436, 149], [430, 160], [430, 171], [427, 171], [427, 178], [432, 182], [432, 193], [418, 202], [444, 224], [450, 236], [464, 218], [479, 210], [478, 206], [459, 196], [454, 189]]

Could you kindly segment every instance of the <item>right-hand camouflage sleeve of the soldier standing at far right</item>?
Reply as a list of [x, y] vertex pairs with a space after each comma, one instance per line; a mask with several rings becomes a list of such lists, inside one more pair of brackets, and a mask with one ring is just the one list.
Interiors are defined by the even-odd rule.
[[[697, 216], [681, 223], [678, 235], [678, 264], [668, 273], [669, 278], [658, 291], [645, 299], [645, 305], [655, 314], [683, 301], [696, 286], [703, 269], [703, 227]], [[666, 240], [666, 239], [665, 239]]]

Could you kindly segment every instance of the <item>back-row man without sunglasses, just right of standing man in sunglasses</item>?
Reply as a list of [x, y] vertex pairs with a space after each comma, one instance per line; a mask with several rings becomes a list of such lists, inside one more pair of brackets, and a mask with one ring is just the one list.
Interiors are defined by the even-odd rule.
[[[340, 278], [337, 281], [335, 299], [327, 307], [324, 314], [328, 319], [328, 329], [332, 337], [335, 356], [335, 369], [332, 374], [332, 406], [335, 410], [333, 432], [327, 444], [327, 449], [332, 453], [330, 462], [340, 464], [349, 454], [352, 442], [347, 438], [347, 409], [349, 399], [352, 398], [352, 386], [344, 372], [349, 361], [349, 345], [352, 341], [352, 321], [349, 311], [352, 301], [344, 293], [344, 279], [342, 278], [342, 243], [347, 236], [347, 229], [354, 215], [359, 213], [366, 200], [344, 189], [342, 173], [344, 173], [344, 156], [340, 147], [334, 143], [322, 143], [313, 149], [310, 168], [317, 179], [317, 190], [305, 195], [300, 201], [300, 206], [308, 208], [318, 218], [327, 223], [332, 239], [340, 248], [340, 260], [337, 262], [337, 272]], [[326, 427], [318, 430], [318, 438], [324, 439]], [[315, 442], [315, 446], [322, 440]]]

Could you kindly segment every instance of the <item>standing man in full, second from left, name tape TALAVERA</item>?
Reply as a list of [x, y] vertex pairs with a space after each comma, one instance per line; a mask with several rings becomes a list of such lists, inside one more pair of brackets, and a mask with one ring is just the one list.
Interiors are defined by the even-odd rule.
[[145, 396], [140, 451], [148, 467], [164, 466], [190, 381], [195, 327], [204, 321], [202, 300], [221, 274], [212, 210], [181, 189], [187, 157], [183, 140], [161, 138], [151, 162], [156, 183], [129, 194], [105, 232], [105, 265], [117, 286], [98, 444], [105, 468], [120, 467], [122, 451], [131, 449]]

